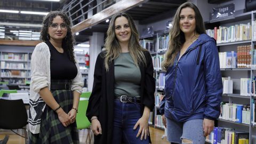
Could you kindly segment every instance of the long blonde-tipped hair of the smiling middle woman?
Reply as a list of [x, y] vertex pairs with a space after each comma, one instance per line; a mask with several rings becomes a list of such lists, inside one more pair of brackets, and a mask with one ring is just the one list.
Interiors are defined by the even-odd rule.
[[111, 18], [111, 21], [108, 26], [107, 38], [105, 41], [106, 53], [104, 63], [107, 71], [109, 70], [110, 62], [118, 58], [119, 54], [122, 51], [121, 46], [118, 43], [118, 39], [115, 35], [115, 21], [119, 17], [125, 17], [129, 22], [129, 26], [131, 28], [131, 37], [129, 40], [128, 50], [131, 54], [131, 57], [135, 65], [139, 67], [139, 64], [141, 62], [146, 65], [146, 58], [145, 55], [143, 54], [143, 51], [146, 51], [146, 49], [143, 49], [140, 46], [139, 34], [137, 28], [135, 27], [134, 21], [132, 20], [131, 16], [127, 13], [117, 13], [113, 15], [113, 17]]

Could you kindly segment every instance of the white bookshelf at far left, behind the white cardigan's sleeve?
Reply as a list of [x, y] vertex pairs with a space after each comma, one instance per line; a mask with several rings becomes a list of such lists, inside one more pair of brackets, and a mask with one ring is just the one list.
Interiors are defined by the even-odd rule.
[[29, 52], [0, 52], [1, 81], [25, 84], [30, 81]]

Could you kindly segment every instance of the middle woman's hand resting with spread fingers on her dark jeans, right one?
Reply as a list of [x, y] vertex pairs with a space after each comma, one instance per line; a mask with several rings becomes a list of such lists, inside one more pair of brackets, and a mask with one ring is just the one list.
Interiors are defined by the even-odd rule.
[[140, 126], [139, 132], [136, 135], [136, 137], [138, 138], [140, 136], [140, 140], [143, 140], [143, 137], [145, 138], [145, 140], [147, 139], [147, 136], [149, 135], [149, 131], [148, 131], [148, 118], [146, 117], [141, 117], [138, 122], [134, 125], [133, 130], [137, 129], [137, 126]]

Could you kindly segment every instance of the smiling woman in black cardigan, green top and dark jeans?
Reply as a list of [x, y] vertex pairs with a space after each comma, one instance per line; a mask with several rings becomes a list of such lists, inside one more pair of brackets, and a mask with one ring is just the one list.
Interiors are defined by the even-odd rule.
[[110, 21], [106, 51], [98, 55], [86, 116], [95, 143], [149, 143], [148, 119], [155, 105], [154, 68], [139, 44], [130, 15]]

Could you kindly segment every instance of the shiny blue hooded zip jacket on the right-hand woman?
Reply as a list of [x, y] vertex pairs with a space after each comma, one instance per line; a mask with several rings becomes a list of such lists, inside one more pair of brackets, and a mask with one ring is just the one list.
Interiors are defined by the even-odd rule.
[[220, 115], [222, 80], [218, 49], [213, 38], [201, 34], [165, 74], [161, 114], [177, 122], [217, 119]]

